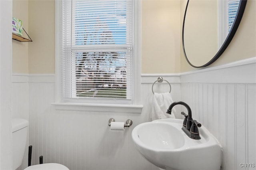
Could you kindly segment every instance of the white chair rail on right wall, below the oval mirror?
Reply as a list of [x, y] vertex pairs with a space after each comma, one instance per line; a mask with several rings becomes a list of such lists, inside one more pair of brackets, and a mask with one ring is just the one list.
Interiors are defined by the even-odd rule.
[[[256, 57], [180, 74], [181, 83], [256, 83]], [[210, 75], [210, 76], [209, 76]]]

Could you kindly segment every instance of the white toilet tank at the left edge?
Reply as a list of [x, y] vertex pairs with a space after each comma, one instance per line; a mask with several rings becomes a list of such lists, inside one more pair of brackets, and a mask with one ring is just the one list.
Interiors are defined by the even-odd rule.
[[21, 164], [26, 149], [28, 134], [28, 121], [25, 119], [12, 119], [12, 169]]

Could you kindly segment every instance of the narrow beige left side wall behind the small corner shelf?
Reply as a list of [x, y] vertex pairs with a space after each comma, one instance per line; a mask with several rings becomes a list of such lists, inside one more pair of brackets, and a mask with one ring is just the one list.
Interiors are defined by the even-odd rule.
[[[28, 33], [28, 0], [13, 0], [12, 16], [22, 20]], [[12, 40], [12, 73], [28, 73], [28, 42]]]

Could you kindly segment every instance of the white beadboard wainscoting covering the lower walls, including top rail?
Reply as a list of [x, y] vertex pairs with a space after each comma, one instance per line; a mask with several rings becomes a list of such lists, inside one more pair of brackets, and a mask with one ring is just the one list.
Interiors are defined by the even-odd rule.
[[[39, 164], [42, 155], [44, 163], [64, 164], [70, 170], [157, 170], [135, 149], [131, 132], [136, 125], [148, 121], [152, 84], [161, 76], [170, 82], [173, 100], [188, 103], [193, 118], [222, 144], [222, 169], [253, 169], [240, 168], [240, 163], [256, 163], [255, 72], [254, 58], [190, 73], [143, 74], [142, 113], [58, 110], [52, 105], [55, 102], [55, 76], [27, 75], [26, 88], [18, 84], [13, 86], [13, 91], [18, 93], [13, 108], [16, 116], [29, 113], [32, 164]], [[17, 81], [24, 78], [14, 76]], [[163, 81], [156, 82], [153, 89], [163, 93], [170, 87]], [[181, 111], [187, 113], [180, 105], [175, 109], [177, 118], [182, 119]], [[133, 124], [124, 131], [113, 131], [108, 127], [110, 118], [122, 122], [131, 119]]]

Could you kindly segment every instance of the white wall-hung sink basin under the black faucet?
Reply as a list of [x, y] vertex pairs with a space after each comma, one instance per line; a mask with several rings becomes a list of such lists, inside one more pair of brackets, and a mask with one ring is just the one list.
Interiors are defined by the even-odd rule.
[[137, 150], [152, 164], [166, 170], [218, 170], [222, 147], [204, 127], [200, 140], [182, 130], [182, 119], [160, 119], [142, 123], [132, 130]]

